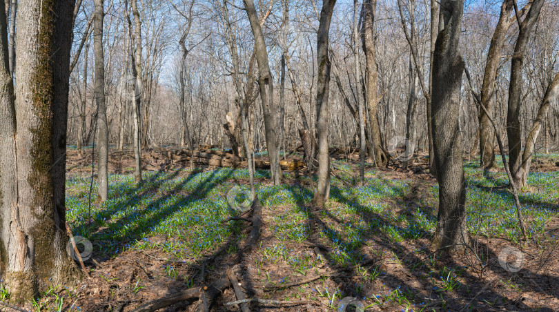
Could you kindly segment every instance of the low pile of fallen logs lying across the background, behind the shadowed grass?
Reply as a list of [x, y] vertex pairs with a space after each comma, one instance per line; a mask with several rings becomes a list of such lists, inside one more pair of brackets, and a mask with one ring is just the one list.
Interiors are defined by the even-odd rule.
[[[157, 146], [150, 150], [150, 156], [154, 159], [164, 159], [171, 164], [185, 162], [188, 164], [193, 157], [192, 151], [182, 148], [177, 150], [169, 150], [167, 148]], [[223, 150], [212, 149], [211, 146], [199, 146], [194, 150], [194, 163], [197, 165], [216, 166], [216, 167], [233, 167], [247, 168], [245, 158], [233, 155]], [[255, 168], [269, 169], [270, 162], [268, 160], [255, 159]], [[306, 164], [297, 159], [280, 160], [280, 166], [283, 170], [304, 170]]]

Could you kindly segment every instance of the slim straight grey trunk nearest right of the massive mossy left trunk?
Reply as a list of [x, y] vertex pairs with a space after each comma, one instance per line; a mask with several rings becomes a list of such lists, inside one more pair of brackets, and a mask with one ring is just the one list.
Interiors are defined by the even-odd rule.
[[95, 103], [97, 104], [98, 175], [97, 201], [105, 202], [108, 196], [108, 124], [105, 104], [105, 55], [103, 51], [104, 0], [95, 0], [93, 24], [93, 50], [95, 52]]

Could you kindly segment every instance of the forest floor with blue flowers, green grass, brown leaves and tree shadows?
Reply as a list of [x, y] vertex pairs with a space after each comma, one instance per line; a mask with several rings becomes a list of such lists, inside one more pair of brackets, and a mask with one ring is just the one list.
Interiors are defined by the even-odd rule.
[[[476, 159], [465, 159], [473, 244], [455, 257], [430, 246], [438, 184], [422, 170], [367, 168], [366, 185], [354, 186], [357, 164], [336, 160], [324, 209], [309, 205], [313, 178], [286, 172], [285, 183], [273, 186], [269, 172], [259, 170], [262, 232], [255, 248], [240, 253], [250, 224], [224, 220], [233, 213], [227, 194], [247, 184], [246, 169], [187, 166], [161, 172], [150, 163], [146, 168], [153, 171], [144, 171], [143, 182], [135, 184], [133, 157], [115, 153], [110, 199], [99, 206], [95, 179], [90, 190], [90, 151], [78, 156], [69, 150], [67, 218], [74, 235], [92, 242], [86, 261], [91, 277], [77, 286], [52, 285], [32, 309], [57, 310], [59, 304], [62, 311], [132, 311], [208, 285], [240, 264], [247, 298], [303, 302], [250, 304], [251, 311], [344, 311], [340, 302], [351, 300], [366, 311], [559, 311], [555, 162], [559, 155], [540, 155], [530, 189], [520, 195], [528, 235], [523, 242], [502, 163], [484, 174]], [[296, 282], [302, 283], [291, 285]], [[227, 289], [212, 311], [239, 311], [224, 305], [235, 300]], [[193, 311], [198, 304], [182, 302], [164, 311]]]

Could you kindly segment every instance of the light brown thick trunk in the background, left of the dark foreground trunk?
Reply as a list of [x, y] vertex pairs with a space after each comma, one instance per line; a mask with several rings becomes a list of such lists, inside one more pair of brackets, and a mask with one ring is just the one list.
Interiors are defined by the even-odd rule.
[[375, 62], [375, 12], [376, 0], [366, 0], [363, 3], [365, 10], [363, 14], [363, 50], [366, 61], [366, 108], [369, 111], [369, 135], [373, 142], [373, 159], [376, 166], [384, 167], [388, 164], [388, 157], [382, 150], [382, 138], [377, 117], [377, 106], [380, 101], [378, 97], [378, 74]]

